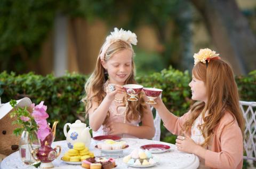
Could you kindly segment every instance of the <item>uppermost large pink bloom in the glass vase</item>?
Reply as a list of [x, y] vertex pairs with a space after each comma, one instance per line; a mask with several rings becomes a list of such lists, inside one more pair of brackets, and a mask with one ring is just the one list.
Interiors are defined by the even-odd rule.
[[44, 120], [49, 117], [49, 115], [46, 112], [47, 106], [44, 106], [44, 102], [41, 101], [37, 106], [35, 104], [31, 104], [31, 107], [33, 109], [33, 113], [31, 114], [35, 121]]

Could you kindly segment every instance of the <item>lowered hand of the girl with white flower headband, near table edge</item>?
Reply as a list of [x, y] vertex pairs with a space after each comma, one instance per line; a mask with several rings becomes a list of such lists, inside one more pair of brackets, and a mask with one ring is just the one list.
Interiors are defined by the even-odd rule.
[[106, 124], [106, 128], [108, 128], [109, 135], [118, 135], [123, 134], [125, 131], [126, 124], [120, 122], [110, 122]]

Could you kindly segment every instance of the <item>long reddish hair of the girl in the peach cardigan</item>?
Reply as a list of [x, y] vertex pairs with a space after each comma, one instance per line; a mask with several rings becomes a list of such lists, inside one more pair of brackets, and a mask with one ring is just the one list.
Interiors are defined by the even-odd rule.
[[[211, 60], [206, 67], [205, 63], [199, 62], [192, 71], [197, 79], [204, 82], [208, 101], [206, 104], [198, 101], [191, 107], [191, 117], [185, 122], [182, 132], [189, 133], [195, 119], [202, 112], [205, 123], [200, 128], [205, 138], [202, 146], [205, 146], [209, 144], [214, 129], [218, 126], [225, 111], [228, 111], [237, 120], [243, 133], [244, 118], [239, 109], [238, 89], [229, 64], [223, 60]], [[206, 111], [208, 115], [205, 117]]]

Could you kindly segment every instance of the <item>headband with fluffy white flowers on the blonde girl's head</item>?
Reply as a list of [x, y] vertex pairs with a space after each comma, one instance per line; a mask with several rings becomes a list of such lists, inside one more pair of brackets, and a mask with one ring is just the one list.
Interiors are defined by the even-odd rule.
[[114, 31], [111, 32], [111, 35], [107, 36], [106, 42], [102, 47], [102, 51], [100, 53], [101, 60], [104, 60], [104, 56], [108, 47], [114, 42], [117, 42], [118, 40], [124, 41], [129, 45], [131, 44], [137, 45], [137, 42], [138, 42], [136, 34], [132, 33], [130, 30], [126, 31], [126, 30], [123, 30], [122, 28], [118, 30], [117, 28], [114, 28]]

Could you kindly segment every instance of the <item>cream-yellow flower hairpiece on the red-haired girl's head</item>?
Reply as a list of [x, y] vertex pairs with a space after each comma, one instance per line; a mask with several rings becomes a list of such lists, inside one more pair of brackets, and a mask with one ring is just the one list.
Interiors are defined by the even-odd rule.
[[215, 51], [212, 51], [208, 48], [199, 50], [198, 53], [194, 54], [195, 59], [195, 65], [199, 62], [207, 63], [210, 62], [210, 60], [219, 60], [219, 54]]

